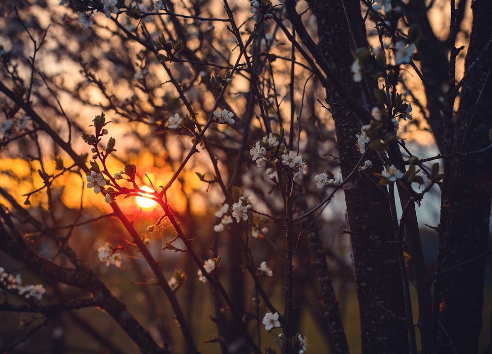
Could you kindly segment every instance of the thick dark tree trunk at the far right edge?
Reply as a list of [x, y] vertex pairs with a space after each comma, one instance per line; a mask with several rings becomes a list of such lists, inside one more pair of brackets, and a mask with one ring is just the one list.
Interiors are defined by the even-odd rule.
[[[489, 43], [492, 2], [472, 3], [473, 29], [466, 56], [465, 79], [449, 153], [464, 153], [491, 144], [492, 49]], [[489, 48], [484, 48], [489, 43]], [[482, 56], [481, 56], [482, 55]], [[477, 60], [481, 56], [481, 59]], [[472, 67], [472, 63], [474, 67]], [[451, 142], [450, 142], [451, 144]], [[491, 150], [445, 161], [437, 272], [485, 252], [492, 196]], [[435, 284], [434, 304], [439, 326], [438, 352], [477, 353], [482, 325], [485, 259], [466, 264]]]

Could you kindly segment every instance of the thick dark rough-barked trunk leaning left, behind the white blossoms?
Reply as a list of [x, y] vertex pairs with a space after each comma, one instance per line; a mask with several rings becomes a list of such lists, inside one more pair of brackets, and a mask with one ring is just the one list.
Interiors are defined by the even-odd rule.
[[[326, 60], [336, 70], [340, 81], [346, 84], [351, 98], [367, 102], [362, 86], [352, 79], [350, 66], [354, 49], [351, 33], [365, 31], [360, 15], [342, 1], [308, 1], [318, 24], [319, 48]], [[358, 6], [355, 6], [358, 7]], [[351, 18], [350, 27], [347, 22]], [[356, 15], [357, 14], [357, 15]], [[357, 19], [357, 21], [354, 21]], [[347, 176], [357, 165], [360, 153], [355, 142], [367, 115], [356, 116], [346, 106], [346, 97], [327, 84], [327, 101], [335, 120], [340, 165]], [[369, 104], [365, 107], [369, 111]], [[381, 171], [382, 164], [372, 151], [367, 158], [374, 170]], [[407, 353], [407, 329], [404, 322], [403, 291], [394, 243], [391, 211], [387, 192], [370, 174], [359, 173], [345, 188], [345, 201], [350, 225], [352, 249], [357, 276], [362, 330], [363, 353]]]

